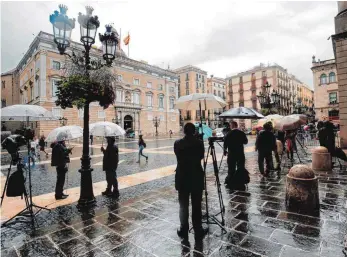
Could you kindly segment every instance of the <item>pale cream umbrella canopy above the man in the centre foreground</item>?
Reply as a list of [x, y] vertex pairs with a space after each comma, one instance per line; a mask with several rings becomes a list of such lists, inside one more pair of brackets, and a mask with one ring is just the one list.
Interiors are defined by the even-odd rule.
[[213, 94], [195, 93], [178, 98], [175, 108], [183, 110], [209, 110], [226, 106], [226, 102]]

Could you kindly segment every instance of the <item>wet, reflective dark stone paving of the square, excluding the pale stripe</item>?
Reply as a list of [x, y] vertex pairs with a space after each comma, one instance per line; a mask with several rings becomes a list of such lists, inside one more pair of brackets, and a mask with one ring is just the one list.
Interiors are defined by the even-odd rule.
[[[118, 177], [137, 176], [144, 171], [175, 165], [175, 155], [169, 153], [173, 151], [173, 142], [174, 139], [148, 142], [148, 164], [144, 160], [135, 163], [137, 153], [123, 150], [120, 160], [124, 162], [119, 165]], [[135, 143], [119, 147], [136, 150]], [[216, 151], [220, 154], [220, 147], [216, 146]], [[100, 151], [95, 148], [94, 155], [98, 154]], [[304, 163], [311, 162], [310, 154], [302, 151], [299, 154]], [[72, 203], [50, 212], [42, 211], [37, 215], [35, 230], [28, 223], [12, 222], [1, 229], [1, 256], [345, 256], [346, 167], [316, 173], [320, 212], [310, 216], [286, 210], [285, 183], [289, 167], [262, 178], [256, 160], [254, 139], [251, 139], [246, 147], [246, 167], [251, 177], [248, 188], [230, 191], [221, 186], [226, 208], [225, 234], [218, 226], [210, 224], [209, 234], [203, 240], [196, 241], [190, 233], [189, 244], [181, 243], [176, 234], [178, 200], [171, 174], [124, 187], [120, 190], [119, 201], [96, 196], [97, 204], [90, 209], [77, 210], [76, 203]], [[93, 159], [93, 163], [100, 161], [101, 157]], [[69, 187], [78, 187], [80, 162], [76, 160], [70, 165], [69, 180], [74, 182], [69, 181]], [[6, 174], [4, 169], [2, 172]], [[226, 173], [223, 162], [221, 182]], [[37, 165], [33, 176], [37, 180], [33, 189], [39, 187], [34, 189], [37, 197], [54, 190], [55, 171], [49, 164]], [[102, 167], [94, 166], [93, 182], [104, 180]], [[210, 164], [207, 180], [209, 211], [210, 214], [218, 213], [218, 194]], [[203, 210], [204, 213], [205, 199]]]

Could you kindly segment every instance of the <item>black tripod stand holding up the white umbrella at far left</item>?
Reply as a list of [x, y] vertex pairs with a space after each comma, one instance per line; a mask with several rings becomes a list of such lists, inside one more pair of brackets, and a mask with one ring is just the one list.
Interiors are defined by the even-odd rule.
[[[32, 225], [34, 226], [35, 222], [37, 223], [35, 216], [41, 210], [51, 211], [50, 209], [48, 209], [46, 207], [41, 207], [41, 206], [38, 206], [38, 205], [33, 203], [32, 184], [31, 184], [31, 167], [30, 167], [30, 159], [31, 159], [31, 157], [30, 157], [30, 142], [28, 139], [27, 139], [27, 148], [28, 148], [28, 170], [27, 171], [29, 173], [29, 196], [27, 195], [26, 189], [25, 189], [24, 192], [26, 194], [26, 197], [25, 197], [26, 207], [23, 210], [21, 210], [19, 213], [17, 213], [16, 215], [14, 215], [12, 218], [10, 218], [9, 220], [7, 220], [3, 224], [1, 224], [2, 227], [6, 226], [13, 219], [15, 219], [17, 217], [22, 217], [22, 216], [29, 216], [31, 218]], [[11, 160], [11, 165], [12, 165], [12, 160]], [[9, 178], [9, 174], [7, 174], [7, 178]], [[7, 184], [7, 180], [6, 180], [6, 184]], [[4, 189], [4, 192], [5, 192], [5, 189]], [[1, 197], [1, 204], [3, 201], [3, 197], [4, 197], [4, 192], [3, 192], [3, 196]], [[38, 210], [35, 212], [34, 208], [37, 208]]]

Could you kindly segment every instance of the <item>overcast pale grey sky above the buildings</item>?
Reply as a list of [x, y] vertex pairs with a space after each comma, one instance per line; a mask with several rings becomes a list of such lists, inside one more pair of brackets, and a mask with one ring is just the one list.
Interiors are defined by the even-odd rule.
[[[14, 68], [48, 16], [64, 2], [1, 2], [1, 72]], [[119, 0], [65, 2], [77, 18], [91, 5], [122, 38], [130, 31], [130, 57], [171, 68], [196, 65], [225, 77], [260, 62], [276, 62], [312, 86], [311, 57], [334, 58], [331, 40], [337, 2], [228, 0]], [[79, 40], [79, 27], [72, 34]], [[97, 42], [99, 44], [99, 42]], [[127, 52], [127, 47], [123, 46]]]

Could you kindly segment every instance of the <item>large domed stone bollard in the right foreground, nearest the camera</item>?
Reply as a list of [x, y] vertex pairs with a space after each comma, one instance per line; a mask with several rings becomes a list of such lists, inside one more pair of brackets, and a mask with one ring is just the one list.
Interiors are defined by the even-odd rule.
[[299, 213], [319, 213], [318, 179], [306, 165], [295, 165], [287, 174], [286, 208]]

